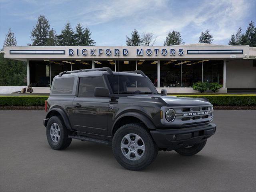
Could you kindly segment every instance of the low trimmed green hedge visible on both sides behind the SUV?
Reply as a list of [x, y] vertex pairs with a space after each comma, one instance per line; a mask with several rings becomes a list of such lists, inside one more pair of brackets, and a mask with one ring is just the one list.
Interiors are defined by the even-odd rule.
[[[169, 95], [170, 96], [170, 95]], [[206, 98], [214, 106], [256, 105], [256, 95], [175, 95], [178, 97]], [[44, 106], [48, 96], [0, 96], [0, 106]]]

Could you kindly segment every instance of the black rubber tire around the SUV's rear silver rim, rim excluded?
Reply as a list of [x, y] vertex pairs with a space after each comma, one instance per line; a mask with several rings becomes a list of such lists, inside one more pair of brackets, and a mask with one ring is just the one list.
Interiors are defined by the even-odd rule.
[[[60, 139], [57, 142], [54, 142], [50, 135], [50, 132], [51, 132], [50, 129], [54, 123], [57, 124], [60, 129], [60, 135], [59, 135]], [[46, 137], [50, 147], [54, 150], [65, 149], [70, 145], [72, 141], [72, 138], [68, 138], [68, 129], [66, 128], [62, 118], [59, 116], [52, 116], [48, 120], [47, 126], [46, 126]]]

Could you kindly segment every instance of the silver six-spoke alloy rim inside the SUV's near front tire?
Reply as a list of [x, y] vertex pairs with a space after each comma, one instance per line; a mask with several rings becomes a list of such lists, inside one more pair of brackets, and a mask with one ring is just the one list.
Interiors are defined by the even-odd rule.
[[129, 160], [139, 160], [145, 153], [145, 143], [140, 136], [129, 133], [122, 138], [121, 151], [125, 158]]

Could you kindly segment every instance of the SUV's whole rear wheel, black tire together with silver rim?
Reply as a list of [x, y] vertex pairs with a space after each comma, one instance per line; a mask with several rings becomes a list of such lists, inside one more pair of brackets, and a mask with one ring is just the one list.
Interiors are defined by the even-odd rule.
[[46, 137], [49, 145], [54, 150], [67, 148], [72, 139], [68, 138], [68, 129], [59, 116], [52, 116], [46, 126]]

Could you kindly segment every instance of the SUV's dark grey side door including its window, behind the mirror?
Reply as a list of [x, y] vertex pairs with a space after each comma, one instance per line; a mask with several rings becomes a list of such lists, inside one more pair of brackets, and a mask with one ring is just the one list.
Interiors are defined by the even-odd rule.
[[79, 78], [72, 107], [72, 129], [92, 136], [106, 136], [110, 98], [94, 97], [95, 87], [106, 87], [102, 76]]

